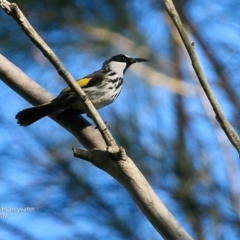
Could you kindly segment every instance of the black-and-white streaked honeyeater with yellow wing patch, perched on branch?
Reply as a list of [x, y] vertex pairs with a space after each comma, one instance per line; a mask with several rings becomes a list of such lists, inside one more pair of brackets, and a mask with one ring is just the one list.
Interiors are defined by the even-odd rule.
[[[126, 70], [132, 64], [144, 61], [148, 60], [118, 54], [106, 60], [100, 70], [77, 80], [77, 83], [95, 108], [100, 109], [117, 99], [122, 90]], [[18, 112], [16, 115], [17, 123], [26, 127], [58, 110], [64, 110], [65, 113], [69, 114], [86, 113], [86, 109], [76, 93], [70, 87], [66, 87], [52, 101]]]

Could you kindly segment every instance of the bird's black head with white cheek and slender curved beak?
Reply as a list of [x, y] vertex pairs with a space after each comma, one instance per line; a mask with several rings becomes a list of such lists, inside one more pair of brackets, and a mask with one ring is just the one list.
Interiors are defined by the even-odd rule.
[[123, 76], [125, 71], [133, 64], [148, 61], [144, 58], [132, 58], [124, 54], [118, 54], [111, 57], [103, 63], [102, 69], [111, 70], [118, 75]]

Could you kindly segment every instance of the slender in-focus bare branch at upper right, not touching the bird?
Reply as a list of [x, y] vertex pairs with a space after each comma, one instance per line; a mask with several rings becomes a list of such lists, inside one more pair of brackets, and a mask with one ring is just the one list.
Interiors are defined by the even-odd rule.
[[193, 68], [197, 74], [198, 80], [207, 95], [207, 98], [212, 105], [212, 108], [216, 114], [216, 119], [219, 122], [220, 126], [222, 127], [223, 131], [225, 132], [226, 136], [230, 140], [230, 142], [233, 144], [233, 146], [236, 148], [238, 153], [240, 154], [240, 138], [238, 134], [233, 129], [232, 125], [228, 122], [226, 119], [224, 113], [221, 110], [221, 107], [214, 96], [214, 93], [202, 71], [202, 68], [200, 66], [200, 63], [198, 61], [197, 55], [195, 53], [194, 44], [191, 43], [191, 41], [188, 38], [187, 32], [183, 27], [183, 24], [181, 22], [181, 19], [176, 11], [176, 8], [172, 2], [172, 0], [164, 0], [165, 6], [167, 8], [168, 14], [172, 18], [174, 24], [176, 25], [178, 32], [182, 38], [182, 41], [188, 51], [188, 54], [190, 56], [190, 59], [192, 61]]

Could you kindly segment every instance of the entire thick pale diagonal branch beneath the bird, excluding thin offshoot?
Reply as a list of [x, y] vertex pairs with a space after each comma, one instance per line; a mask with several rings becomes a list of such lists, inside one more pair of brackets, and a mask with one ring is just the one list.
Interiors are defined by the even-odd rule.
[[[29, 79], [1, 54], [0, 78], [32, 104], [40, 104], [52, 99], [52, 95]], [[73, 149], [75, 156], [91, 162], [120, 182], [165, 239], [191, 240], [188, 233], [158, 198], [134, 162], [126, 156], [120, 156], [116, 159], [117, 161], [109, 157], [109, 154], [104, 151], [106, 144], [97, 129], [89, 126], [89, 123], [86, 123], [86, 120], [80, 116], [58, 119], [57, 115], [53, 114], [51, 117], [72, 133], [87, 149], [92, 149], [91, 151]], [[124, 152], [122, 155], [125, 155]], [[122, 158], [125, 161], [122, 161]]]

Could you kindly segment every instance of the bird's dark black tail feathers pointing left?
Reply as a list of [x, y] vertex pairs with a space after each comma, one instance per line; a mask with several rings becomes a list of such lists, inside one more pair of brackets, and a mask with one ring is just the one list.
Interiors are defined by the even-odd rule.
[[40, 106], [31, 107], [20, 111], [16, 115], [17, 123], [23, 127], [26, 127], [39, 119], [51, 114], [56, 111], [51, 103], [46, 103]]

